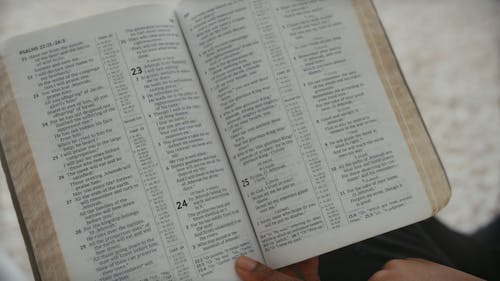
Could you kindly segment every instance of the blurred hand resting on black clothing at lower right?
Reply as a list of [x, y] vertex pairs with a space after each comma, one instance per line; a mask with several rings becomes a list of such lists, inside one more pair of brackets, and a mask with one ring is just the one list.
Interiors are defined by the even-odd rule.
[[481, 278], [423, 259], [396, 259], [387, 262], [368, 281], [479, 281]]

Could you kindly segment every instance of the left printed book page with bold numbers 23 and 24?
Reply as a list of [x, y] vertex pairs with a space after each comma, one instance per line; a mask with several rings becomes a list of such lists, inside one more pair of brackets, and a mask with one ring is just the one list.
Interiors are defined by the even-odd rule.
[[3, 56], [71, 280], [237, 280], [237, 256], [262, 260], [171, 10], [24, 35]]

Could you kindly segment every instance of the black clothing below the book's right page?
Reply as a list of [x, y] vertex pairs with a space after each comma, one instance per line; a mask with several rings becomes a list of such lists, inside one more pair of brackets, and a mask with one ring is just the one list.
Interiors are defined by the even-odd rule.
[[366, 281], [396, 258], [422, 258], [500, 280], [500, 217], [471, 236], [430, 218], [321, 255], [319, 274], [322, 281]]

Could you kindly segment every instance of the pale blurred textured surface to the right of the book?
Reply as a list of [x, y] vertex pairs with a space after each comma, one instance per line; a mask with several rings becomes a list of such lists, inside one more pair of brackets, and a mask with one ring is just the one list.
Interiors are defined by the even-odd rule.
[[500, 2], [375, 3], [453, 188], [439, 217], [471, 232], [500, 211]]

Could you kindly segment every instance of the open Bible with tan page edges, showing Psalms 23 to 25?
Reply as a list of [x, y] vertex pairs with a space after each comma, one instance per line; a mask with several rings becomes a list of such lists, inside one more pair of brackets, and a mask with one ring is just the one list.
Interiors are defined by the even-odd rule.
[[1, 50], [2, 163], [42, 280], [237, 280], [450, 189], [372, 3], [185, 1]]

